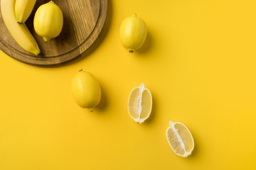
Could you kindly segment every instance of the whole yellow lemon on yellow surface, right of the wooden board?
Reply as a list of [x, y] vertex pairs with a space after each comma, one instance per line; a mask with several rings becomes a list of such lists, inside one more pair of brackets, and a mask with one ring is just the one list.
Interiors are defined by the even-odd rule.
[[119, 37], [129, 52], [138, 50], [146, 40], [146, 23], [136, 14], [125, 18], [120, 26]]

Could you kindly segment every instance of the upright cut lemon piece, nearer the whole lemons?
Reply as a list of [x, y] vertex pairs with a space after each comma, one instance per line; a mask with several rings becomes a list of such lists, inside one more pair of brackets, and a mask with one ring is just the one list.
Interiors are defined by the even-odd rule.
[[152, 96], [149, 89], [145, 88], [144, 83], [132, 89], [128, 101], [128, 112], [131, 118], [139, 124], [143, 123], [149, 118], [151, 108]]

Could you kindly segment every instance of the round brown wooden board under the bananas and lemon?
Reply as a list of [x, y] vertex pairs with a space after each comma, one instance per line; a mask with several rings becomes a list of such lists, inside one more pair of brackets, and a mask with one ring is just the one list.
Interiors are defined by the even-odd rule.
[[[1, 0], [0, 0], [1, 1]], [[54, 0], [63, 11], [63, 30], [57, 38], [44, 42], [33, 29], [36, 9], [46, 0], [36, 1], [26, 26], [38, 42], [41, 53], [23, 50], [7, 30], [0, 13], [0, 49], [16, 60], [38, 66], [55, 66], [79, 57], [100, 34], [107, 16], [107, 0]]]

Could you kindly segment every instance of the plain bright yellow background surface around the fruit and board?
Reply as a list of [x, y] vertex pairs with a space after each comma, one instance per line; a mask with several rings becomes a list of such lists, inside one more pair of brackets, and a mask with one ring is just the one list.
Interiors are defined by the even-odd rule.
[[[256, 169], [256, 3], [109, 1], [100, 38], [80, 60], [34, 67], [0, 52], [0, 169]], [[148, 27], [141, 50], [119, 42], [122, 20]], [[79, 69], [95, 75], [95, 113], [73, 101]], [[138, 125], [127, 113], [142, 81], [153, 112]], [[178, 157], [168, 120], [191, 130], [195, 149]]]

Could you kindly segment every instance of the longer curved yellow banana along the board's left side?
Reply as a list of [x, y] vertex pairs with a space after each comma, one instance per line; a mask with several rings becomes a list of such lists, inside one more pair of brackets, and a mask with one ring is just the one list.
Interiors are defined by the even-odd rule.
[[16, 0], [1, 0], [1, 15], [4, 19], [6, 28], [18, 45], [24, 50], [31, 52], [34, 55], [38, 55], [40, 53], [39, 47], [35, 38], [33, 38], [33, 35], [31, 35], [26, 27], [26, 24], [20, 24], [16, 21], [14, 13], [15, 1]]

